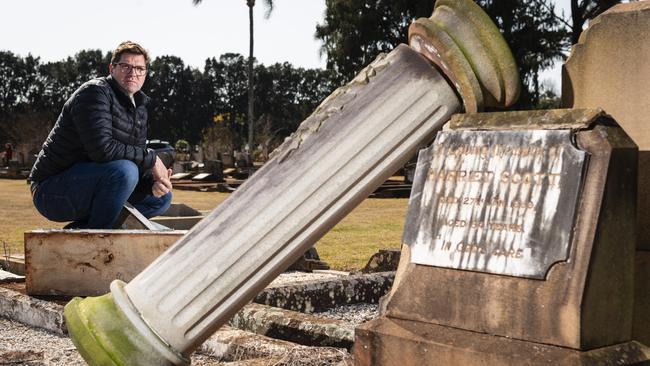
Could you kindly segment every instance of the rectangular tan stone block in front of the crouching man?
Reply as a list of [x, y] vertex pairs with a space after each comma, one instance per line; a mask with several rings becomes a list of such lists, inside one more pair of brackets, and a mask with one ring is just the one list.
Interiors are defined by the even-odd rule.
[[185, 234], [148, 230], [34, 230], [25, 233], [30, 295], [89, 296], [131, 280]]

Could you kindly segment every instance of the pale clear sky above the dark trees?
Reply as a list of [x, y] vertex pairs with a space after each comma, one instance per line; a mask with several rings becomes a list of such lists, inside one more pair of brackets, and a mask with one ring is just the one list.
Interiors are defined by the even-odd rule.
[[[556, 0], [567, 7], [570, 0]], [[264, 64], [325, 67], [320, 41], [325, 0], [275, 0], [269, 19], [263, 0], [255, 7], [255, 55]], [[406, 30], [405, 30], [406, 32]], [[203, 68], [205, 59], [225, 52], [248, 55], [248, 8], [245, 0], [13, 0], [3, 1], [0, 50], [31, 53], [57, 61], [82, 49], [109, 51], [129, 39], [153, 57], [175, 55]], [[559, 89], [560, 69], [545, 72]]]

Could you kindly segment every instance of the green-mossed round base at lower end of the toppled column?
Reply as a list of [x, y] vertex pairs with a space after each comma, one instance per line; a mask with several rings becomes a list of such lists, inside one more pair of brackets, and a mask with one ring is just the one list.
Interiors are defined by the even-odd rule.
[[90, 366], [186, 366], [190, 360], [175, 352], [146, 325], [131, 305], [124, 282], [113, 281], [111, 293], [75, 297], [64, 310], [75, 347]]

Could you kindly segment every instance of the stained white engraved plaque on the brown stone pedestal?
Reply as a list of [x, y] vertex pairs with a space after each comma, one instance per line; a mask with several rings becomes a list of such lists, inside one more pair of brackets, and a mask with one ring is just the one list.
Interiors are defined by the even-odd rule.
[[445, 131], [420, 153], [403, 241], [418, 264], [543, 279], [566, 261], [585, 152], [571, 131]]

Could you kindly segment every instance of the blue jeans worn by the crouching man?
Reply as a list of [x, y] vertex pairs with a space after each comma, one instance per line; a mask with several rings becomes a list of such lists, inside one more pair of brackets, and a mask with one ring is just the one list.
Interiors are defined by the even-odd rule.
[[156, 198], [152, 184], [151, 174], [140, 179], [129, 160], [77, 163], [40, 182], [34, 206], [49, 220], [74, 221], [75, 228], [111, 229], [127, 201], [147, 218], [169, 208], [171, 192]]

